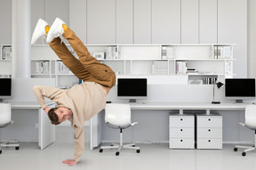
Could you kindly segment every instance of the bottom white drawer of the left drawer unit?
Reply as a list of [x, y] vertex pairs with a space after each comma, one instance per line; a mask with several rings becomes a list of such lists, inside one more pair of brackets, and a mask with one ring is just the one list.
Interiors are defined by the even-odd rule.
[[172, 149], [194, 149], [194, 139], [175, 138], [170, 139], [169, 147]]

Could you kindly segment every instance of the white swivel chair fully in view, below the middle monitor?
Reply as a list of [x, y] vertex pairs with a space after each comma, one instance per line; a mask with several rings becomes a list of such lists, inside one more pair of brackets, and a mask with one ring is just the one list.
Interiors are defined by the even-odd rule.
[[125, 148], [136, 150], [137, 153], [140, 153], [140, 147], [135, 147], [135, 143], [123, 145], [123, 129], [137, 124], [137, 122], [131, 122], [130, 104], [106, 104], [105, 122], [110, 128], [120, 129], [120, 143], [111, 144], [110, 146], [101, 146], [100, 152], [102, 152], [104, 149], [118, 148], [118, 151], [116, 151], [116, 156], [118, 156], [121, 149]]

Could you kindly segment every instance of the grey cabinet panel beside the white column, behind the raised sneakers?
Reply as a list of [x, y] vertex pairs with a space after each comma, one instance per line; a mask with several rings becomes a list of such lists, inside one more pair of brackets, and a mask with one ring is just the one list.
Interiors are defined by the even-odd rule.
[[[36, 27], [38, 19], [44, 19], [44, 0], [31, 1], [31, 37]], [[36, 44], [42, 44], [41, 40], [37, 40]]]

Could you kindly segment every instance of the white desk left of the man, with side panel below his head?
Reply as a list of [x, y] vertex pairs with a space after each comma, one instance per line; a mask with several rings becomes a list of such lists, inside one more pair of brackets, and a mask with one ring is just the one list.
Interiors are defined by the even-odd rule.
[[[48, 119], [47, 114], [37, 102], [11, 101], [12, 110], [35, 110], [38, 114], [38, 146], [43, 150], [55, 142], [55, 127]], [[54, 103], [47, 104], [48, 106]]]

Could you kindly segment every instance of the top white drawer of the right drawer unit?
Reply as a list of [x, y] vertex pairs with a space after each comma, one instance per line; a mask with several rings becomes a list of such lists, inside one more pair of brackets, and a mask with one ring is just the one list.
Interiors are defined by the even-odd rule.
[[222, 116], [197, 116], [197, 128], [222, 128]]

